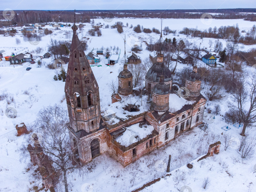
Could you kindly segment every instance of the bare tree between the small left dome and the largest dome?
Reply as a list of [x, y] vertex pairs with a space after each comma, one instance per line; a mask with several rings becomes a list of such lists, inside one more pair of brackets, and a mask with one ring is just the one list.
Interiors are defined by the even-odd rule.
[[138, 64], [129, 64], [128, 65], [129, 71], [131, 71], [134, 87], [137, 87], [139, 83], [142, 81], [142, 78], [144, 77], [144, 67], [142, 63]]

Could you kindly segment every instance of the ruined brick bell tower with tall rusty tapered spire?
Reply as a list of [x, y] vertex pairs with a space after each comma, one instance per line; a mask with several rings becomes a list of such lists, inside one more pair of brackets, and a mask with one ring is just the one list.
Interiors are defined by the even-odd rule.
[[71, 28], [73, 37], [65, 83], [70, 127], [75, 132], [93, 133], [100, 126], [99, 87], [76, 34], [75, 21]]

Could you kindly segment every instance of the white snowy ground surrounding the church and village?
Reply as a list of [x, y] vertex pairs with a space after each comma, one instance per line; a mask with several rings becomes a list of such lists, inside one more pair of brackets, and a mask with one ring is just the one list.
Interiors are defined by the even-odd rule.
[[[124, 27], [124, 33], [119, 34], [117, 29], [101, 28], [101, 37], [91, 37], [88, 35], [88, 29], [91, 29], [91, 24], [86, 23], [82, 31], [77, 30], [80, 39], [89, 38], [88, 51], [93, 48], [104, 48], [110, 46], [118, 46], [121, 49], [120, 58], [124, 54], [124, 37], [126, 34], [126, 51], [130, 52], [134, 44], [140, 45], [141, 42], [149, 42], [150, 37], [155, 42], [159, 39], [159, 34], [155, 33], [135, 33], [130, 25], [136, 26], [140, 24], [144, 28], [155, 27], [160, 29], [160, 19], [114, 19], [106, 22], [102, 19], [95, 19], [95, 23], [101, 22], [105, 25], [113, 24], [116, 21], [122, 21], [124, 25], [128, 22], [129, 26]], [[200, 30], [208, 29], [209, 27], [220, 27], [227, 25], [239, 25], [240, 30], [249, 30], [255, 22], [243, 20], [215, 20], [213, 19], [210, 25], [205, 25], [200, 19], [166, 19], [163, 20], [163, 27], [168, 26], [171, 30], [182, 30], [183, 27], [198, 28]], [[60, 30], [54, 30], [53, 27], [47, 26], [53, 31], [52, 39], [68, 40], [71, 42], [72, 30], [71, 27], [61, 27]], [[66, 35], [70, 33], [70, 36]], [[163, 35], [165, 38], [187, 39], [191, 42], [196, 42], [198, 45], [209, 49], [208, 41], [210, 38], [191, 38], [176, 34]], [[15, 44], [15, 38], [21, 40], [21, 44]], [[216, 39], [211, 39], [215, 41]], [[47, 52], [47, 44], [50, 41], [50, 35], [43, 36], [38, 45], [25, 42], [22, 34], [19, 31], [14, 37], [0, 36], [0, 50], [5, 50], [2, 47], [27, 47], [25, 52], [33, 52], [38, 46], [43, 51], [39, 55], [44, 55]], [[225, 47], [226, 41], [220, 39]], [[143, 51], [138, 56], [143, 60], [149, 57], [145, 43], [142, 43]], [[224, 48], [223, 47], [223, 48]], [[240, 50], [246, 51], [256, 45], [241, 45]], [[5, 50], [3, 57], [8, 56], [11, 52], [15, 52], [10, 48]], [[33, 53], [33, 55], [38, 55]], [[119, 60], [120, 61], [120, 60]], [[60, 104], [66, 108], [64, 98], [64, 84], [62, 81], [54, 81], [53, 76], [56, 71], [46, 68], [48, 63], [52, 63], [52, 59], [42, 59], [42, 67], [37, 68], [37, 63], [23, 63], [23, 65], [10, 66], [7, 62], [0, 62], [0, 95], [6, 93], [6, 99], [0, 100], [0, 191], [19, 191], [25, 192], [35, 185], [33, 179], [29, 177], [33, 173], [33, 169], [26, 171], [28, 167], [32, 167], [30, 159], [21, 159], [19, 147], [25, 141], [25, 136], [17, 137], [15, 125], [25, 123], [32, 124], [37, 117], [37, 113], [44, 106]], [[108, 67], [107, 59], [101, 56], [102, 67], [92, 67], [94, 76], [98, 82], [100, 90], [101, 111], [107, 111], [111, 104], [111, 93], [107, 83], [111, 80], [117, 80], [119, 71], [122, 70], [120, 63]], [[67, 69], [67, 64], [64, 66]], [[32, 67], [26, 71], [27, 67]], [[177, 69], [187, 67], [183, 64], [178, 64]], [[191, 66], [188, 66], [192, 68]], [[251, 72], [250, 68], [248, 71]], [[112, 72], [112, 73], [111, 73]], [[214, 106], [216, 102], [208, 103]], [[221, 105], [221, 114], [224, 115], [228, 110], [226, 100]], [[146, 104], [145, 104], [146, 105]], [[111, 105], [112, 106], [112, 105]], [[7, 108], [12, 107], [17, 111], [17, 117], [12, 119], [5, 115]], [[207, 119], [205, 111], [205, 119]], [[95, 158], [93, 162], [84, 166], [81, 172], [73, 171], [68, 173], [70, 191], [81, 192], [81, 187], [89, 186], [87, 191], [105, 191], [105, 192], [128, 192], [141, 187], [144, 183], [166, 174], [166, 163], [168, 155], [172, 155], [171, 160], [171, 176], [162, 178], [161, 181], [153, 184], [143, 191], [178, 191], [183, 186], [189, 186], [193, 192], [197, 191], [256, 191], [256, 173], [254, 165], [256, 164], [255, 156], [253, 159], [241, 159], [241, 155], [237, 153], [239, 145], [239, 133], [241, 128], [237, 129], [233, 125], [229, 132], [232, 134], [234, 142], [232, 146], [224, 151], [224, 147], [220, 148], [220, 153], [209, 157], [205, 160], [197, 162], [198, 157], [207, 153], [210, 144], [221, 141], [225, 132], [221, 127], [226, 126], [225, 120], [221, 116], [216, 116], [214, 123], [209, 125], [209, 128], [204, 132], [202, 129], [194, 128], [189, 132], [183, 133], [175, 140], [171, 141], [167, 146], [156, 149], [150, 154], [147, 154], [137, 160], [135, 163], [123, 168], [121, 164], [109, 157], [107, 153]], [[253, 129], [247, 128], [255, 133]], [[193, 168], [189, 170], [186, 164], [191, 162]], [[185, 165], [185, 166], [184, 166]], [[208, 189], [202, 188], [203, 179], [210, 178]], [[34, 181], [37, 183], [37, 181]], [[39, 182], [40, 183], [40, 182]], [[58, 191], [63, 190], [62, 185], [58, 185]], [[33, 191], [33, 190], [30, 190]], [[82, 191], [84, 192], [84, 191]]]

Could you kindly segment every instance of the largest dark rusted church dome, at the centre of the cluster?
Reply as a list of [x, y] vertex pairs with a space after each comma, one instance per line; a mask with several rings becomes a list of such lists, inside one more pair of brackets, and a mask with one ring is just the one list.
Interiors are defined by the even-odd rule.
[[149, 82], [159, 82], [160, 76], [164, 76], [164, 82], [172, 80], [172, 73], [163, 63], [155, 63], [147, 72], [146, 80]]

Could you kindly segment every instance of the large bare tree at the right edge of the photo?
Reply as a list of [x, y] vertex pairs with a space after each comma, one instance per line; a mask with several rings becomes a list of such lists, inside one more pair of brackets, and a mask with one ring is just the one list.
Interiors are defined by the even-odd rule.
[[235, 86], [233, 102], [229, 103], [229, 107], [234, 114], [239, 114], [244, 124], [241, 135], [245, 136], [247, 126], [256, 122], [256, 76], [249, 76], [248, 81], [247, 75], [243, 75], [235, 81]]

